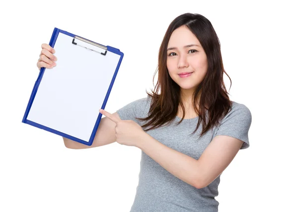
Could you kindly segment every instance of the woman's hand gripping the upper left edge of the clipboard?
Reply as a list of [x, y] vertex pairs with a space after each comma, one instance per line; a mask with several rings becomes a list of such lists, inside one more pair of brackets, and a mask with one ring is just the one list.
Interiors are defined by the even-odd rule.
[[39, 55], [39, 59], [37, 62], [37, 67], [40, 71], [42, 67], [45, 67], [47, 69], [53, 69], [54, 66], [56, 66], [56, 63], [54, 61], [57, 61], [57, 57], [53, 54], [55, 53], [55, 50], [46, 43], [43, 43], [41, 45], [41, 53]]

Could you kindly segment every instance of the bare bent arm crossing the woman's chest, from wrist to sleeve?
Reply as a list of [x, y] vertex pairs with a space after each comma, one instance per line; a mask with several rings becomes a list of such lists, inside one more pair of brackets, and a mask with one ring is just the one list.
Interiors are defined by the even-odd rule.
[[196, 160], [152, 138], [149, 134], [139, 140], [137, 147], [168, 172], [200, 189], [212, 183], [230, 164], [243, 141], [216, 136]]

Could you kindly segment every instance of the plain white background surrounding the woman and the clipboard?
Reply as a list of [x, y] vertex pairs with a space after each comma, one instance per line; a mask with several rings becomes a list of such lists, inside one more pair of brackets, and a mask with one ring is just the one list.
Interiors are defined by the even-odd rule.
[[222, 174], [219, 211], [297, 210], [296, 8], [294, 0], [1, 3], [0, 211], [130, 211], [140, 149], [117, 142], [68, 149], [61, 137], [21, 123], [39, 73], [41, 44], [57, 27], [120, 49], [124, 59], [105, 108], [114, 113], [153, 88], [163, 35], [185, 12], [212, 22], [232, 79], [230, 99], [252, 113], [251, 146]]

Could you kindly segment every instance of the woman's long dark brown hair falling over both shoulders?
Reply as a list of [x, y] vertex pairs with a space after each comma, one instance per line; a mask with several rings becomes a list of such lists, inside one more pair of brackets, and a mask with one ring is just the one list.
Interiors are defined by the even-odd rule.
[[[223, 76], [224, 73], [226, 75], [227, 73], [224, 71], [221, 44], [218, 36], [211, 22], [206, 17], [200, 14], [185, 13], [179, 15], [170, 23], [159, 48], [158, 67], [154, 73], [155, 77], [158, 71], [158, 80], [154, 90], [151, 90], [152, 93], [146, 91], [152, 97], [149, 116], [137, 118], [140, 121], [150, 120], [142, 126], [144, 128], [151, 126], [145, 132], [172, 122], [176, 117], [179, 105], [182, 108], [183, 117], [178, 124], [183, 121], [185, 116], [185, 108], [180, 96], [180, 86], [170, 77], [166, 66], [167, 45], [170, 36], [175, 29], [183, 25], [187, 26], [200, 41], [208, 61], [207, 74], [198, 85], [192, 97], [194, 110], [199, 117], [197, 127], [192, 134], [197, 131], [202, 122], [201, 137], [213, 126], [218, 125], [220, 119], [231, 109], [231, 101], [224, 86]], [[229, 76], [228, 78], [231, 82]], [[160, 91], [159, 94], [158, 91]], [[197, 107], [198, 105], [199, 107]], [[208, 120], [206, 117], [207, 112]]]

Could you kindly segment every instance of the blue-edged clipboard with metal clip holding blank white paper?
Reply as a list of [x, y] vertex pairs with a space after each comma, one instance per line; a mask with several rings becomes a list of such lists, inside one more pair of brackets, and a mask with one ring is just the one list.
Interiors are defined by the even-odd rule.
[[124, 54], [54, 28], [56, 67], [41, 68], [22, 123], [91, 145]]

